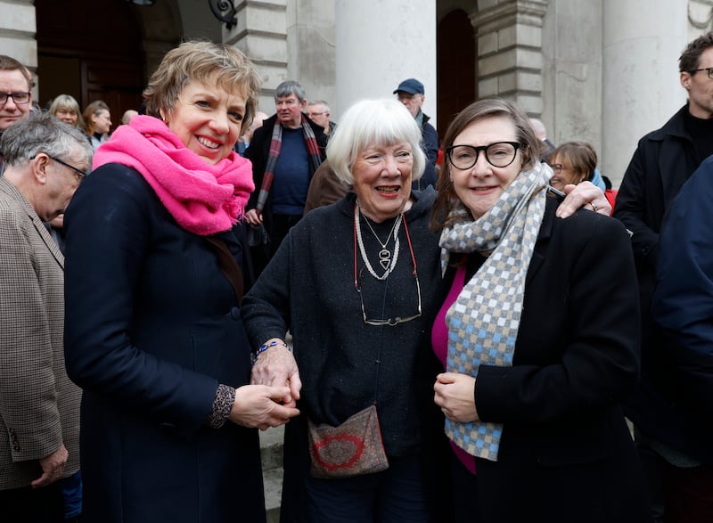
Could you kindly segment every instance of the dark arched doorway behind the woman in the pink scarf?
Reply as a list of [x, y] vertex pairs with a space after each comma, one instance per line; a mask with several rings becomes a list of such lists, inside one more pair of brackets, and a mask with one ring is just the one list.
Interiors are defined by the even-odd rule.
[[114, 126], [141, 105], [145, 84], [141, 20], [126, 0], [36, 0], [39, 103], [74, 96], [82, 109], [103, 100]]

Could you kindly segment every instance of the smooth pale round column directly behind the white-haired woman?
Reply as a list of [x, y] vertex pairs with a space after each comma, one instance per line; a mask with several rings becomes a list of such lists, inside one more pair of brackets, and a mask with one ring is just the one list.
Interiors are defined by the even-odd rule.
[[401, 80], [425, 89], [423, 112], [436, 121], [436, 2], [336, 0], [335, 121], [353, 102], [395, 96]]

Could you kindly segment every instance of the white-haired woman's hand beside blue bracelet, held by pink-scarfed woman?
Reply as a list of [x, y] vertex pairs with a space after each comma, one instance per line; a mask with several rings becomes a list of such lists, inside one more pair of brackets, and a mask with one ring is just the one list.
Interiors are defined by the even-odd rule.
[[302, 381], [299, 380], [295, 356], [282, 346], [270, 347], [261, 352], [258, 355], [258, 361], [252, 366], [250, 383], [271, 387], [288, 387], [289, 393], [281, 398], [281, 401], [286, 406], [297, 405]]

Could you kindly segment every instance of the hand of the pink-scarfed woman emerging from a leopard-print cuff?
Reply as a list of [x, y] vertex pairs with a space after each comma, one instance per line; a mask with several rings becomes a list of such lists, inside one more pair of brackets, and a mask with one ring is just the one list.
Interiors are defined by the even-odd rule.
[[284, 425], [290, 418], [299, 415], [296, 408], [278, 403], [289, 394], [287, 387], [244, 385], [235, 389], [235, 401], [228, 420], [260, 430]]

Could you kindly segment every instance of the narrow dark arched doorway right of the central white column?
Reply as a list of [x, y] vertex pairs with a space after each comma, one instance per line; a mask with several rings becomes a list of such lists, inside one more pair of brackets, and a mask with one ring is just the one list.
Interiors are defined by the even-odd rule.
[[468, 13], [448, 12], [438, 22], [438, 135], [443, 139], [455, 114], [478, 96], [476, 46]]

